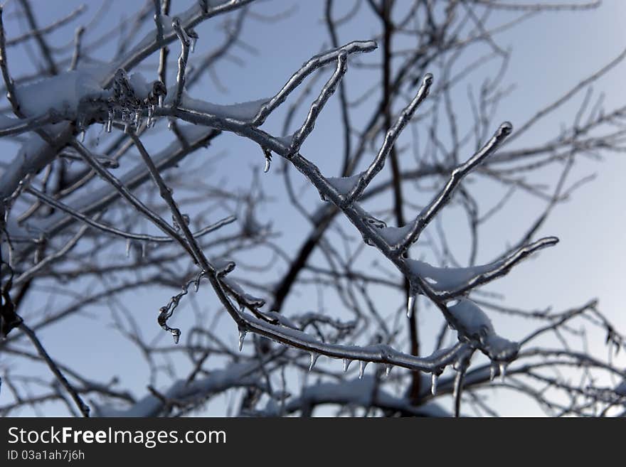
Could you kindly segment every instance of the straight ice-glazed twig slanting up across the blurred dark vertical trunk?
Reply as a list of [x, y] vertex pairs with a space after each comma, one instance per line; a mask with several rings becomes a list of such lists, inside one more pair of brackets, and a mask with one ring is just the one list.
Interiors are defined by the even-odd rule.
[[359, 178], [359, 181], [356, 183], [356, 185], [346, 195], [346, 204], [351, 204], [354, 200], [358, 200], [359, 196], [361, 196], [361, 194], [363, 193], [363, 190], [365, 190], [365, 188], [369, 185], [369, 183], [376, 176], [376, 174], [381, 171], [381, 169], [385, 165], [385, 160], [387, 159], [387, 156], [391, 151], [393, 144], [396, 142], [396, 139], [398, 139], [398, 136], [400, 136], [400, 133], [402, 132], [404, 127], [406, 127], [411, 117], [413, 117], [415, 110], [418, 109], [420, 104], [428, 96], [431, 85], [433, 85], [433, 75], [427, 73], [422, 80], [422, 85], [420, 86], [418, 93], [415, 95], [410, 104], [408, 104], [408, 106], [405, 107], [402, 112], [400, 112], [400, 116], [396, 120], [396, 123], [393, 124], [393, 127], [391, 127], [387, 131], [383, 146], [381, 146], [378, 154], [376, 154], [376, 158], [373, 160], [367, 170], [361, 175], [361, 178]]

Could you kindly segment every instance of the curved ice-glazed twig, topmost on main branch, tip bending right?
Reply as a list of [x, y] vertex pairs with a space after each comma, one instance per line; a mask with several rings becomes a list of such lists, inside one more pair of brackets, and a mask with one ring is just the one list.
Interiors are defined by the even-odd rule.
[[339, 57], [339, 54], [346, 53], [347, 55], [351, 55], [353, 53], [371, 52], [372, 50], [375, 50], [376, 47], [377, 45], [374, 41], [354, 41], [343, 45], [340, 48], [336, 48], [321, 53], [319, 55], [315, 55], [310, 60], [308, 60], [307, 63], [304, 63], [304, 65], [302, 65], [302, 68], [297, 70], [297, 72], [294, 73], [292, 77], [290, 77], [287, 83], [285, 83], [285, 86], [282, 87], [277, 95], [272, 97], [272, 99], [267, 101], [267, 103], [259, 109], [259, 112], [254, 117], [252, 124], [255, 127], [258, 127], [260, 124], [265, 122], [267, 116], [272, 113], [276, 109], [276, 107], [282, 104], [282, 102], [285, 102], [287, 96], [290, 95], [290, 93], [300, 85], [305, 77], [313, 73], [318, 68], [321, 68], [324, 65], [327, 65], [328, 63], [336, 60]]

